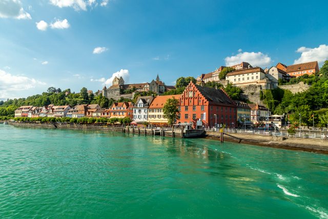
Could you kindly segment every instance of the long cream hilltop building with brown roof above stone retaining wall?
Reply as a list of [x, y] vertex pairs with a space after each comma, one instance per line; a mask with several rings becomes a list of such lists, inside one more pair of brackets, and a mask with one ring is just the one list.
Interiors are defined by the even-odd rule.
[[260, 67], [240, 69], [226, 75], [226, 80], [236, 86], [260, 85], [261, 89], [274, 89], [278, 86], [278, 80], [269, 74], [265, 74]]

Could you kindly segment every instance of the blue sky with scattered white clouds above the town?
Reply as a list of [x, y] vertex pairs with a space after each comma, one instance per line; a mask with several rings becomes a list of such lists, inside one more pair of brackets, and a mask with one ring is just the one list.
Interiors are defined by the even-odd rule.
[[328, 59], [328, 1], [0, 0], [0, 99]]

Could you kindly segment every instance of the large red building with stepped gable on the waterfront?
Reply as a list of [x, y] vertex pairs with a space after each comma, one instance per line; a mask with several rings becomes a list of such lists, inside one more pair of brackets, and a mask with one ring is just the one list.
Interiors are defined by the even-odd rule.
[[197, 121], [201, 121], [204, 127], [215, 127], [215, 124], [236, 127], [237, 106], [223, 90], [190, 82], [179, 101], [177, 123], [192, 123], [193, 128]]

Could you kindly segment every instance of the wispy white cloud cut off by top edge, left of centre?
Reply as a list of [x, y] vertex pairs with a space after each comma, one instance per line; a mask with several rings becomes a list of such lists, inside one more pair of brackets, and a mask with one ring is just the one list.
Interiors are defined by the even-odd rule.
[[88, 7], [106, 6], [108, 0], [50, 0], [50, 4], [59, 8], [72, 7], [75, 11], [87, 11]]

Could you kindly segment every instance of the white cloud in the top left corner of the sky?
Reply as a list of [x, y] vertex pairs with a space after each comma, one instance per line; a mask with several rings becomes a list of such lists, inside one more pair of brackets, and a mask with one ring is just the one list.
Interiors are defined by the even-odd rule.
[[22, 3], [19, 0], [2, 0], [0, 1], [0, 17], [31, 19], [31, 15], [24, 11]]

